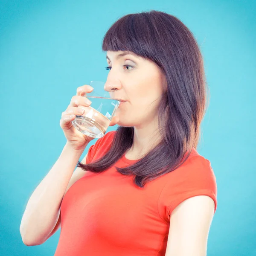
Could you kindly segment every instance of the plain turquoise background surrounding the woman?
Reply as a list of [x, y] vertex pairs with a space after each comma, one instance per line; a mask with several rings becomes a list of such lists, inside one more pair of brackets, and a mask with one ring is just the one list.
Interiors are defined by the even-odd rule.
[[54, 254], [60, 230], [27, 247], [19, 227], [66, 142], [61, 112], [77, 87], [107, 78], [101, 44], [111, 24], [151, 9], [183, 21], [204, 56], [210, 104], [198, 152], [210, 160], [218, 185], [207, 256], [256, 255], [253, 0], [0, 1], [0, 255]]

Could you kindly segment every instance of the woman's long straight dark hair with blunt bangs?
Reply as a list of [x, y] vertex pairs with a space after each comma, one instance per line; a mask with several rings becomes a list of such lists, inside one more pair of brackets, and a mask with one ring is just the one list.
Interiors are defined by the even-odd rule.
[[[103, 51], [131, 51], [153, 61], [166, 77], [167, 91], [158, 109], [161, 141], [136, 163], [116, 167], [145, 183], [182, 165], [196, 149], [207, 105], [203, 58], [192, 32], [175, 16], [151, 10], [125, 15], [106, 32]], [[134, 127], [119, 126], [110, 150], [94, 163], [77, 167], [103, 172], [116, 163], [133, 143]]]

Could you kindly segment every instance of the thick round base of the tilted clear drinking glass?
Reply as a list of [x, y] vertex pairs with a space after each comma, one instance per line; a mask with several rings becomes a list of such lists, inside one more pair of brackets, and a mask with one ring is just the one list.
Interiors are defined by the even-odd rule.
[[106, 132], [97, 122], [85, 116], [76, 116], [72, 124], [82, 134], [92, 138], [101, 138]]

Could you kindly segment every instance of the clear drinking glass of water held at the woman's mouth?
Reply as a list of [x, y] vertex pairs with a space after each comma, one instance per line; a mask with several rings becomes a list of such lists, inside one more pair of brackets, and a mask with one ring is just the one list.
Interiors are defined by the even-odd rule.
[[78, 108], [83, 108], [85, 112], [81, 116], [76, 116], [72, 124], [87, 136], [101, 138], [106, 133], [120, 102], [111, 99], [110, 93], [104, 90], [104, 82], [91, 81], [90, 86], [93, 87], [93, 91], [87, 93], [86, 97], [92, 103], [89, 107], [78, 105]]

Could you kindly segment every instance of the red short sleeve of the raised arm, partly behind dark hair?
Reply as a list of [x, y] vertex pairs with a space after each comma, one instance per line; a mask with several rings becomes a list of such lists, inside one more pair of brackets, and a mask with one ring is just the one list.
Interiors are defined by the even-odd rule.
[[86, 163], [91, 163], [96, 158], [99, 158], [102, 154], [108, 150], [109, 146], [112, 143], [113, 136], [115, 131], [109, 131], [104, 134], [103, 137], [96, 140], [94, 145], [91, 145], [87, 151]]

